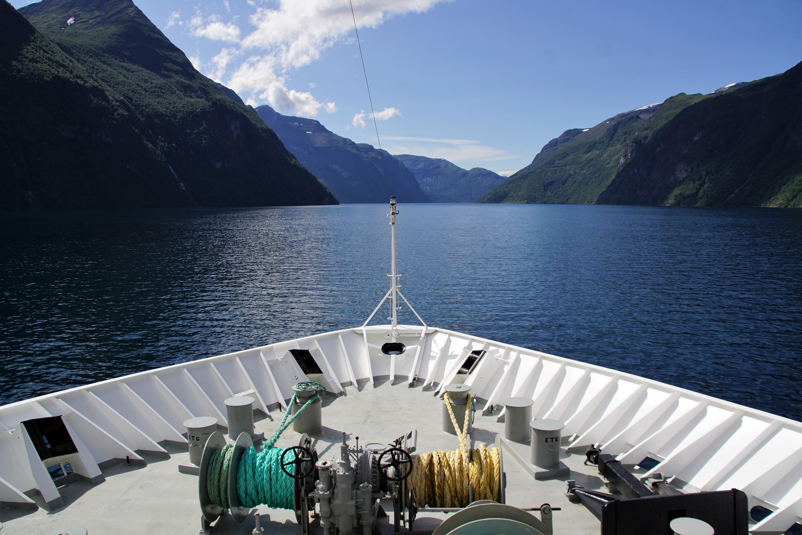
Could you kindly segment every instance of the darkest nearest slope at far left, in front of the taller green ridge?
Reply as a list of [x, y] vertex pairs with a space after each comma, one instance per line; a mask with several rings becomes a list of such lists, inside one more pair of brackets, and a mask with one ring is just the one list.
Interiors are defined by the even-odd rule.
[[0, 209], [195, 205], [143, 128], [0, 0]]

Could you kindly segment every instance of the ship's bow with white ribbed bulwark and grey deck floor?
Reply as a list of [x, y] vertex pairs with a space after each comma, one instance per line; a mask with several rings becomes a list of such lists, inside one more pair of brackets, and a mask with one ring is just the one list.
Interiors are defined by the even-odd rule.
[[[504, 450], [507, 503], [537, 507], [548, 502], [555, 533], [598, 533], [599, 522], [564, 496], [565, 480], [602, 488], [595, 467], [585, 467], [588, 444], [634, 465], [646, 456], [660, 461], [650, 472], [673, 476], [687, 492], [739, 488], [749, 507], [773, 511], [752, 522], [753, 533], [782, 533], [802, 524], [802, 424], [748, 407], [685, 391], [634, 375], [589, 366], [500, 342], [448, 330], [405, 326], [404, 355], [379, 350], [388, 326], [349, 329], [178, 364], [85, 387], [57, 392], [0, 407], [0, 501], [45, 509], [2, 509], [0, 521], [10, 533], [44, 533], [64, 525], [82, 525], [89, 533], [197, 533], [200, 509], [197, 478], [180, 474], [188, 461], [182, 422], [213, 416], [225, 422], [224, 400], [251, 391], [255, 408], [273, 419], [257, 421], [269, 436], [280, 419], [279, 408], [291, 387], [306, 380], [290, 349], [306, 349], [323, 371], [332, 391], [322, 411], [324, 433], [317, 449], [323, 459], [334, 452], [327, 444], [347, 432], [360, 444], [389, 442], [416, 428], [418, 452], [454, 450], [455, 436], [441, 430], [442, 403], [435, 387], [448, 384], [471, 351], [487, 351], [466, 384], [480, 399], [475, 444], [492, 444], [504, 424], [496, 421], [502, 399], [534, 400], [533, 417], [559, 419], [564, 462], [571, 476], [533, 480]], [[408, 387], [410, 378], [418, 378]], [[358, 384], [359, 387], [354, 385]], [[423, 386], [422, 386], [423, 385]], [[433, 386], [431, 386], [433, 385]], [[74, 481], [56, 487], [36, 452], [26, 445], [20, 423], [63, 415], [81, 452], [75, 472], [105, 481]], [[279, 446], [297, 444], [285, 432]], [[352, 443], [353, 444], [353, 443]], [[126, 464], [126, 459], [133, 464]], [[122, 460], [122, 462], [119, 462]], [[83, 465], [82, 465], [83, 464]], [[642, 473], [648, 475], [650, 472]], [[31, 500], [28, 496], [34, 496]], [[59, 506], [63, 501], [64, 506]], [[270, 510], [273, 531], [299, 533], [290, 511]], [[536, 513], [537, 514], [537, 513]], [[419, 517], [431, 516], [420, 513]], [[265, 518], [266, 520], [266, 518]], [[216, 533], [250, 533], [253, 522], [221, 519]], [[265, 525], [265, 528], [268, 526]]]

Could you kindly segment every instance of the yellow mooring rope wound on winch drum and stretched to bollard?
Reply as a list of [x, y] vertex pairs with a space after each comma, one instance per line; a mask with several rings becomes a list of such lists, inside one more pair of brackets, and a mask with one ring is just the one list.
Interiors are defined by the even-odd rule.
[[415, 502], [429, 507], [466, 507], [469, 501], [468, 481], [471, 482], [474, 501], [499, 501], [501, 463], [498, 449], [488, 450], [484, 444], [480, 444], [479, 448], [468, 451], [471, 395], [468, 394], [462, 431], [456, 423], [448, 392], [444, 399], [456, 436], [460, 439], [460, 449], [456, 452], [437, 450], [412, 456], [413, 470], [407, 484], [415, 495]]

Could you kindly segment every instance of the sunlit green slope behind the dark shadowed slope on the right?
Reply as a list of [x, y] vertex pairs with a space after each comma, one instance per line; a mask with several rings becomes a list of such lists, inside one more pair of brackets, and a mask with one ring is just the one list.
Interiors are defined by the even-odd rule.
[[545, 144], [531, 164], [477, 202], [593, 204], [626, 163], [635, 140], [650, 136], [679, 111], [705, 98], [680, 93], [593, 128], [566, 130]]

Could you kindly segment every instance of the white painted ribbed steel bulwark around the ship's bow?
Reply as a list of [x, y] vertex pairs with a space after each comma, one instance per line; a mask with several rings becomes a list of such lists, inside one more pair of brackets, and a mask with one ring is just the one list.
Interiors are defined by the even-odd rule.
[[286, 407], [294, 383], [306, 379], [290, 349], [309, 349], [339, 392], [390, 374], [439, 390], [470, 351], [484, 350], [465, 383], [486, 400], [487, 411], [501, 399], [528, 397], [534, 401], [533, 417], [565, 422], [563, 436], [569, 442], [564, 439], [563, 445], [573, 451], [600, 443], [603, 452], [625, 464], [650, 456], [659, 461], [650, 472], [673, 476], [674, 484], [690, 491], [740, 488], [750, 507], [774, 511], [751, 527], [753, 533], [782, 532], [802, 523], [800, 422], [636, 375], [426, 326], [397, 326], [397, 337], [409, 342], [409, 351], [391, 366], [379, 348], [392, 331], [383, 325], [317, 334], [0, 407], [0, 497], [26, 502], [20, 496], [38, 488], [47, 501], [59, 498], [20, 431], [26, 419], [63, 415], [83, 463], [91, 465], [82, 471], [98, 476], [98, 464], [126, 456], [142, 463], [137, 452], [164, 453], [164, 440], [185, 442], [179, 431], [185, 419], [214, 416], [225, 424], [225, 399], [231, 395], [253, 391], [263, 411]]

